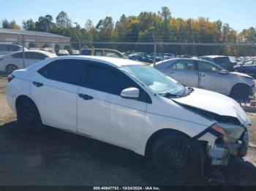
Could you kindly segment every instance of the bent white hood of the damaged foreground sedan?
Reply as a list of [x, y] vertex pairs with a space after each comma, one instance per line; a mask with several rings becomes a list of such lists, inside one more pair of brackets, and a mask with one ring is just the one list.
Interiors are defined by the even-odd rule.
[[190, 95], [173, 98], [173, 101], [222, 116], [236, 117], [245, 126], [251, 124], [244, 110], [232, 98], [208, 90], [194, 89]]

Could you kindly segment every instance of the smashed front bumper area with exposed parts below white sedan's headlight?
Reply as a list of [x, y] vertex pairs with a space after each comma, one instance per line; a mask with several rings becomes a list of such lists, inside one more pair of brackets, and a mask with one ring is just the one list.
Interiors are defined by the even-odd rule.
[[209, 131], [198, 140], [208, 141], [207, 152], [211, 165], [227, 165], [230, 156], [244, 157], [246, 155], [249, 145], [249, 133], [246, 128], [237, 140]]

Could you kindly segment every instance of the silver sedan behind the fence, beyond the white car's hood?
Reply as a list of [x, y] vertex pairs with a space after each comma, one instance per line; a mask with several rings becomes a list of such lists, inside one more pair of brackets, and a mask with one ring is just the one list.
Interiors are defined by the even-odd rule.
[[249, 75], [229, 72], [215, 63], [190, 58], [160, 61], [156, 69], [189, 87], [200, 87], [228, 95], [234, 99], [248, 99], [255, 94], [255, 83]]

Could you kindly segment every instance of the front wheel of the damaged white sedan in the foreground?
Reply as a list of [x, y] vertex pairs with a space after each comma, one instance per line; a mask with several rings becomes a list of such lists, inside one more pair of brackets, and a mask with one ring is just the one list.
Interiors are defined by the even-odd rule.
[[199, 153], [192, 139], [179, 133], [172, 133], [163, 135], [155, 141], [151, 160], [154, 168], [168, 176], [174, 184], [184, 184], [199, 179]]

